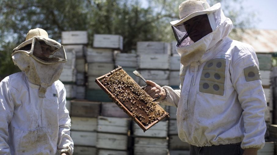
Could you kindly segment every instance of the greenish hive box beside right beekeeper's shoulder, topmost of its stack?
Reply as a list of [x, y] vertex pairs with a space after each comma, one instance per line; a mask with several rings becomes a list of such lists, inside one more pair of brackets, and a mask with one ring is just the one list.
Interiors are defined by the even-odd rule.
[[271, 70], [272, 67], [272, 54], [271, 53], [257, 53], [260, 70]]

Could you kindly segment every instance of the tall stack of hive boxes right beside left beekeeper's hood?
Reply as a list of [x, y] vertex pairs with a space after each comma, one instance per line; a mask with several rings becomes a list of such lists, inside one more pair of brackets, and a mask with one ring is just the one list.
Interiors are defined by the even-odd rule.
[[64, 83], [67, 97], [67, 109], [70, 111], [70, 100], [85, 98], [85, 57], [88, 43], [86, 31], [62, 32], [62, 45], [67, 56], [67, 62], [60, 76]]

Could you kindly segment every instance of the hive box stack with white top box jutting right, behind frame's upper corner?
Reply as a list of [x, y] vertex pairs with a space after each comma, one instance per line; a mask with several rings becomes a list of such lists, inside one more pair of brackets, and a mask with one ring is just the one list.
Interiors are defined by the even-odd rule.
[[122, 50], [123, 38], [119, 35], [95, 34], [93, 48], [88, 48], [88, 89], [86, 99], [90, 101], [110, 102], [108, 95], [95, 83], [95, 79], [115, 68], [114, 50]]

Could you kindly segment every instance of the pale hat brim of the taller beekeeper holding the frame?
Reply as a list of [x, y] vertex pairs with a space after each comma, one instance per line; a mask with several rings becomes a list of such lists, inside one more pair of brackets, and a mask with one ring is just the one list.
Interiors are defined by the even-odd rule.
[[179, 19], [179, 20], [174, 20], [172, 22], [170, 22], [170, 24], [172, 26], [177, 26], [177, 25], [180, 25], [181, 23], [195, 17], [195, 16], [199, 16], [199, 15], [204, 15], [204, 14], [208, 14], [210, 12], [215, 12], [216, 10], [220, 9], [221, 8], [221, 4], [220, 3], [217, 3], [213, 6], [211, 6], [210, 8], [206, 9], [206, 10], [203, 10], [203, 11], [198, 11], [198, 12], [193, 12], [191, 14], [189, 14], [188, 16], [186, 16], [185, 18], [182, 18], [182, 19]]

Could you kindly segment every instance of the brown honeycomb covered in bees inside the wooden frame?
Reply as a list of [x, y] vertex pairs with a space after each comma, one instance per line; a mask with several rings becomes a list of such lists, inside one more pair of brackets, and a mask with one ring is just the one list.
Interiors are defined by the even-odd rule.
[[[165, 114], [157, 102], [152, 102], [153, 99], [122, 69], [106, 76], [101, 83], [132, 112], [133, 119], [137, 118], [144, 126]], [[119, 103], [115, 103], [124, 110]]]

